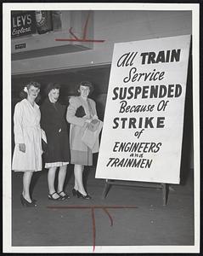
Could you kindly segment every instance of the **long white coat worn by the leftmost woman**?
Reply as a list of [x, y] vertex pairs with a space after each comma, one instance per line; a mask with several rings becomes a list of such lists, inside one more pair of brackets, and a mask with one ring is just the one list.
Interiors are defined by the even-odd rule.
[[[14, 108], [14, 155], [12, 170], [15, 172], [42, 170], [42, 137], [39, 106], [34, 107], [26, 99]], [[19, 149], [25, 143], [25, 153]]]

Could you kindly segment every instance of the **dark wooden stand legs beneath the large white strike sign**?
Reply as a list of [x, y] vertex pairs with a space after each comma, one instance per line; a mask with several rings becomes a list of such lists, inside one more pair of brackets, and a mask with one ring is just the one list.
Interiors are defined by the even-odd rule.
[[121, 186], [124, 185], [124, 186], [136, 186], [136, 187], [144, 187], [144, 188], [162, 189], [163, 206], [166, 206], [168, 191], [169, 191], [167, 183], [146, 183], [146, 182], [118, 181], [113, 179], [106, 179], [104, 184], [102, 199], [105, 199], [112, 185], [121, 185]]

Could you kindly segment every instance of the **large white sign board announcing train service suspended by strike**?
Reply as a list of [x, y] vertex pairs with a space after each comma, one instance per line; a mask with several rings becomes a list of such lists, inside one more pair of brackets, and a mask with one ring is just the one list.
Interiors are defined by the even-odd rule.
[[189, 44], [115, 44], [97, 178], [179, 183]]

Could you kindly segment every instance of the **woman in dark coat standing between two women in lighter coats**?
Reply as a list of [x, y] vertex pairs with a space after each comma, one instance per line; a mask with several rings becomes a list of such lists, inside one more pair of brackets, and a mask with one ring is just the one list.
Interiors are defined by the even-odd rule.
[[[44, 160], [45, 168], [48, 168], [48, 199], [50, 200], [69, 198], [69, 195], [64, 191], [64, 183], [67, 165], [70, 162], [70, 144], [65, 120], [66, 108], [58, 102], [59, 89], [59, 84], [48, 84], [48, 97], [41, 106], [41, 127], [47, 138]], [[58, 167], [59, 177], [56, 191], [54, 181]]]

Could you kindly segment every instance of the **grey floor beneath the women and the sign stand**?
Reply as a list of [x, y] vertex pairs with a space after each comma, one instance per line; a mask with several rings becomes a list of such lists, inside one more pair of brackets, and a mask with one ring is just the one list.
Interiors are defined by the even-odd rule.
[[31, 183], [34, 208], [21, 206], [22, 173], [12, 172], [13, 247], [96, 246], [96, 252], [101, 246], [194, 245], [193, 170], [183, 183], [170, 185], [166, 206], [161, 189], [136, 186], [112, 186], [102, 199], [104, 179], [95, 178], [94, 167], [84, 172], [93, 197], [89, 201], [71, 195], [72, 166], [65, 180], [66, 201], [48, 200], [47, 170], [36, 172]]

